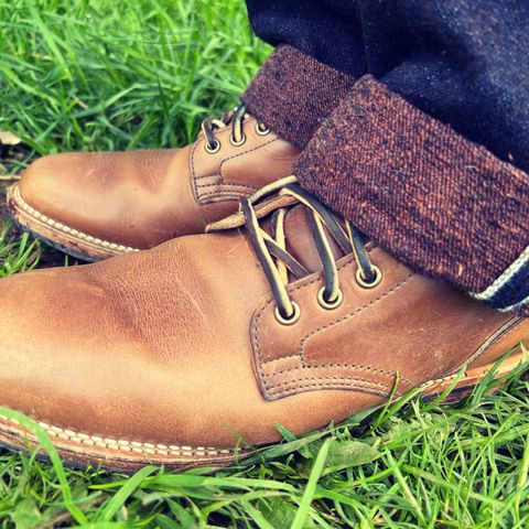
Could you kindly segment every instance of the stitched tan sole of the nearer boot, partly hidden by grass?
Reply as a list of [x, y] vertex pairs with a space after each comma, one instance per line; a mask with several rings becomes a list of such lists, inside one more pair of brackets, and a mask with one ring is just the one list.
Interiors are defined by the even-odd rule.
[[[451, 388], [444, 401], [454, 401], [469, 395], [487, 374], [495, 368], [493, 379], [497, 380], [526, 360], [523, 352], [518, 348], [499, 365], [489, 364], [468, 369], [458, 380], [458, 374], [431, 380], [420, 387], [427, 399], [441, 396]], [[457, 380], [455, 384], [454, 381]], [[500, 385], [495, 388], [499, 389]], [[39, 425], [48, 434], [58, 455], [67, 466], [83, 468], [87, 465], [104, 467], [109, 471], [133, 473], [145, 465], [164, 466], [168, 469], [184, 469], [196, 466], [227, 466], [256, 455], [256, 449], [235, 447], [192, 447], [165, 444], [152, 444], [121, 439], [108, 439], [98, 435], [75, 432], [52, 424], [40, 422]], [[37, 450], [41, 458], [46, 454], [34, 434], [18, 421], [0, 414], [0, 444], [11, 451], [29, 452]], [[268, 447], [268, 446], [264, 446]]]

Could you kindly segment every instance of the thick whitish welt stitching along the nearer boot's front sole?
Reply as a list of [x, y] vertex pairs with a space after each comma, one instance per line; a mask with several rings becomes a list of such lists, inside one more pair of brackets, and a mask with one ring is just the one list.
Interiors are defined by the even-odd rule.
[[[15, 419], [1, 415], [4, 421], [20, 424]], [[43, 428], [48, 435], [62, 439], [63, 441], [71, 441], [74, 443], [83, 444], [86, 446], [100, 447], [106, 450], [119, 450], [121, 452], [142, 453], [147, 455], [180, 455], [180, 456], [193, 456], [193, 455], [223, 455], [233, 454], [235, 450], [244, 451], [245, 449], [216, 449], [214, 446], [176, 446], [173, 444], [153, 444], [143, 443], [139, 441], [128, 441], [123, 439], [110, 439], [101, 438], [99, 435], [89, 435], [86, 433], [75, 432], [71, 429], [64, 429], [55, 425], [40, 422], [39, 425]]]

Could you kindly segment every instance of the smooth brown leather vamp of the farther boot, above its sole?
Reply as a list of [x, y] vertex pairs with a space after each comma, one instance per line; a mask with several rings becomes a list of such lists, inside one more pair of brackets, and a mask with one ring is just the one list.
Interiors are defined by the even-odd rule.
[[149, 248], [203, 230], [187, 168], [188, 148], [54, 154], [30, 165], [20, 193], [31, 207], [72, 229]]

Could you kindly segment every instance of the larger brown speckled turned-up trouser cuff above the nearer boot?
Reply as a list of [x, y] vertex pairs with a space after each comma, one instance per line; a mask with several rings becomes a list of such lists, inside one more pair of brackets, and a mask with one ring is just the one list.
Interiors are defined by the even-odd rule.
[[[369, 76], [320, 128], [294, 173], [396, 258], [466, 292], [504, 289], [504, 272], [529, 245], [529, 176]], [[516, 298], [528, 284], [521, 279], [500, 293]]]

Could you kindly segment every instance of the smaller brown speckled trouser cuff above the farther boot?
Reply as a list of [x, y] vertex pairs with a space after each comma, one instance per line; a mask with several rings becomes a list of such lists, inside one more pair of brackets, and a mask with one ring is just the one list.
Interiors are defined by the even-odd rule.
[[241, 97], [252, 116], [303, 149], [355, 79], [294, 47], [279, 46]]

